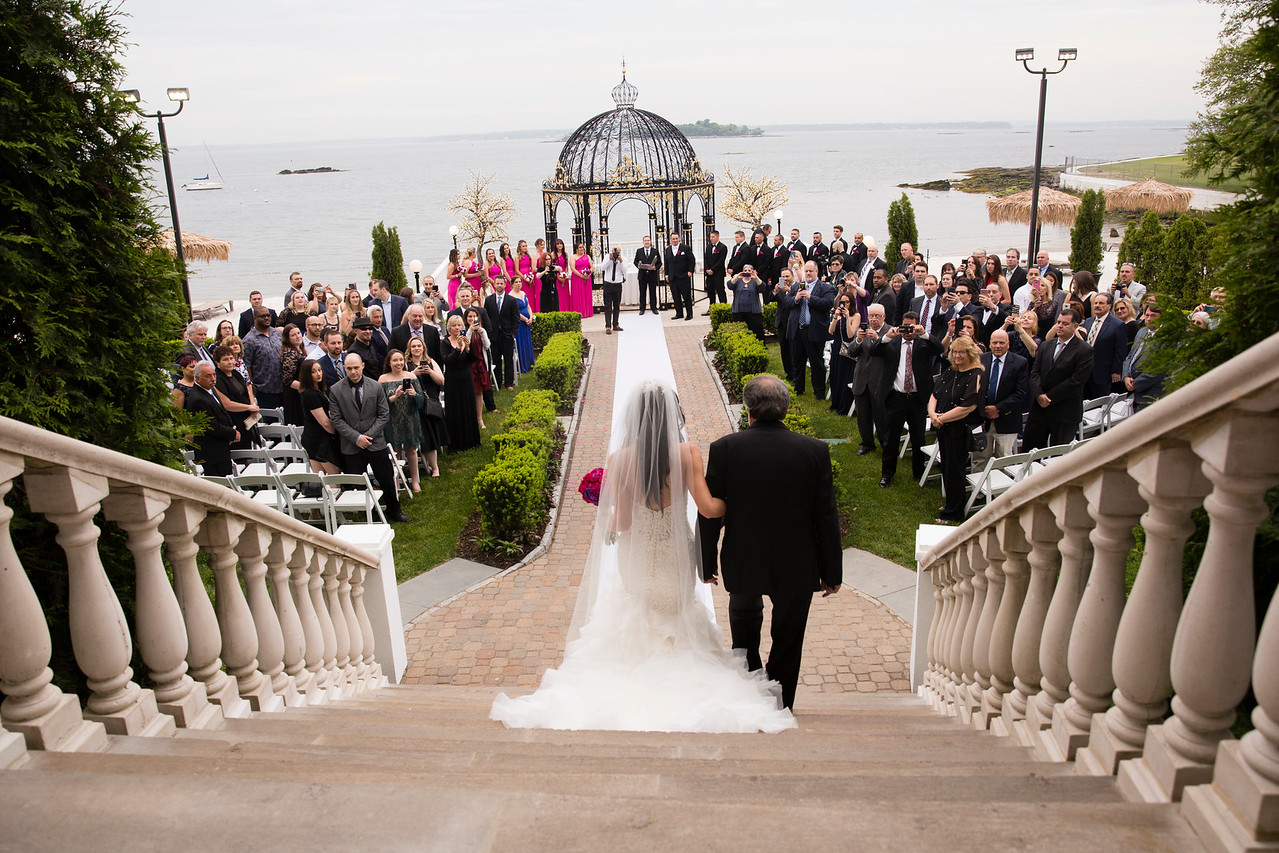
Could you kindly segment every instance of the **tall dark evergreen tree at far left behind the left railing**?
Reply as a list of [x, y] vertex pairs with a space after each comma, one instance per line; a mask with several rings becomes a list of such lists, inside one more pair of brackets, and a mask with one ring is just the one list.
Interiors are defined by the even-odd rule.
[[118, 6], [0, 15], [0, 413], [143, 459], [183, 446], [165, 387], [185, 320], [147, 198], [159, 146], [119, 93]]

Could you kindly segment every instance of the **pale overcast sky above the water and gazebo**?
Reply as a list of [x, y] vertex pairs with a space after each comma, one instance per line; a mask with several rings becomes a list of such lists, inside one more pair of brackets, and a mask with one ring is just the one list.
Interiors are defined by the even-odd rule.
[[191, 88], [171, 142], [210, 145], [572, 129], [637, 106], [683, 123], [1192, 119], [1219, 13], [1196, 0], [500, 3], [124, 0], [127, 88]]

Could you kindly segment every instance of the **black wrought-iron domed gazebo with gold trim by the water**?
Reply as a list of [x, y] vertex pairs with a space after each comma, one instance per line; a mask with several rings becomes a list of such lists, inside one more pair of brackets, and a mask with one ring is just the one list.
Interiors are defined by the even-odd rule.
[[692, 246], [689, 207], [698, 200], [702, 239], [715, 225], [715, 175], [702, 169], [693, 146], [674, 124], [637, 110], [638, 90], [627, 82], [613, 88], [616, 105], [573, 132], [564, 143], [555, 173], [542, 183], [547, 248], [559, 235], [556, 211], [568, 202], [573, 243], [586, 243], [597, 257], [609, 253], [609, 212], [636, 198], [648, 207], [648, 237], [661, 247], [673, 229]]

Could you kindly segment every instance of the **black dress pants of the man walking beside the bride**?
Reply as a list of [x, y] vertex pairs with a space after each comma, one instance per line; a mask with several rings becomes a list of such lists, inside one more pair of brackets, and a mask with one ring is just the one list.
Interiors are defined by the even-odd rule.
[[[799, 664], [803, 656], [803, 632], [808, 624], [808, 607], [812, 605], [812, 591], [774, 593], [773, 624], [769, 634], [773, 647], [769, 650], [769, 678], [781, 685], [781, 703], [788, 708], [796, 705], [796, 685], [799, 683]], [[728, 624], [733, 632], [733, 648], [746, 650], [746, 665], [757, 670], [760, 661], [760, 633], [764, 628], [764, 596], [728, 596]]]

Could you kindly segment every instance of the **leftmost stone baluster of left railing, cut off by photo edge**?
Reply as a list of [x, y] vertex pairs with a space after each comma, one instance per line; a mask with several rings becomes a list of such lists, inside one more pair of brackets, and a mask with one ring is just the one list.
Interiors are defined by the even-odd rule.
[[97, 752], [106, 748], [106, 729], [83, 719], [77, 698], [52, 684], [49, 623], [9, 533], [5, 496], [22, 467], [22, 457], [0, 451], [0, 723], [31, 749]]

